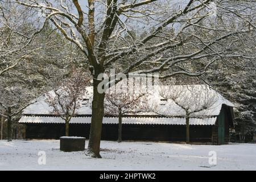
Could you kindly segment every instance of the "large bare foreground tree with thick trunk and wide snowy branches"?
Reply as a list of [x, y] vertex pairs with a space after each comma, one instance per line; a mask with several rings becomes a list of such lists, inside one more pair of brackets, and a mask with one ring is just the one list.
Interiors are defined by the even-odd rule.
[[254, 1], [16, 2], [43, 11], [44, 24], [51, 22], [90, 64], [93, 101], [88, 150], [97, 158], [101, 157], [105, 98], [97, 90], [98, 76], [107, 68], [118, 68], [125, 75], [159, 72], [163, 79], [180, 74], [200, 77], [222, 61], [228, 60], [229, 65], [255, 58], [255, 52], [243, 49], [245, 36], [255, 31]]

